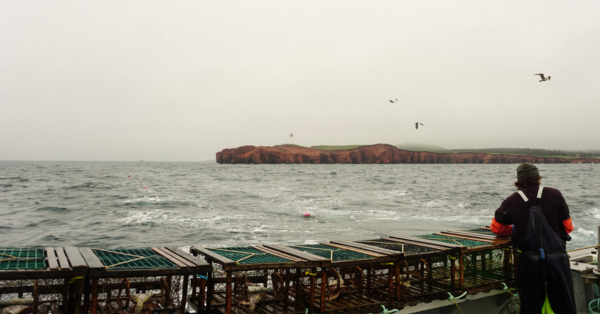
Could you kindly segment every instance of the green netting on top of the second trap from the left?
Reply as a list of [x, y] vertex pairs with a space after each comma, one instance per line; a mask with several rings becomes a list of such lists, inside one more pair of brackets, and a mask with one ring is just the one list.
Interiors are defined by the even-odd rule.
[[156, 254], [152, 249], [92, 249], [96, 256], [109, 269], [164, 269], [177, 268], [168, 259]]

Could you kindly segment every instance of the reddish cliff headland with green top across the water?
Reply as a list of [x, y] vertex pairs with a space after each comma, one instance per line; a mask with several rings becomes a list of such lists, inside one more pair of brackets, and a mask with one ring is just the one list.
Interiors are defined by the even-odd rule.
[[430, 153], [376, 144], [349, 150], [318, 150], [294, 145], [241, 146], [217, 153], [220, 164], [508, 164], [598, 163], [596, 158], [565, 159], [483, 153]]

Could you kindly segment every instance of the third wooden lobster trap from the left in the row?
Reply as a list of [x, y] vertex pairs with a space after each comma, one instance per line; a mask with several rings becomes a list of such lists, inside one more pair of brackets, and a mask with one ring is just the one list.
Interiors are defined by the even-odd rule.
[[316, 272], [323, 258], [278, 245], [192, 247], [211, 265], [206, 300], [191, 300], [200, 313], [312, 313]]

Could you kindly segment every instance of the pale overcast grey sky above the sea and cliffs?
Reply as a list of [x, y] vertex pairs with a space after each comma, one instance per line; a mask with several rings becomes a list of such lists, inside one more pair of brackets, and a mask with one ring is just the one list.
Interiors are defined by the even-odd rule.
[[214, 160], [291, 132], [304, 146], [600, 149], [599, 13], [598, 0], [1, 0], [0, 160]]

